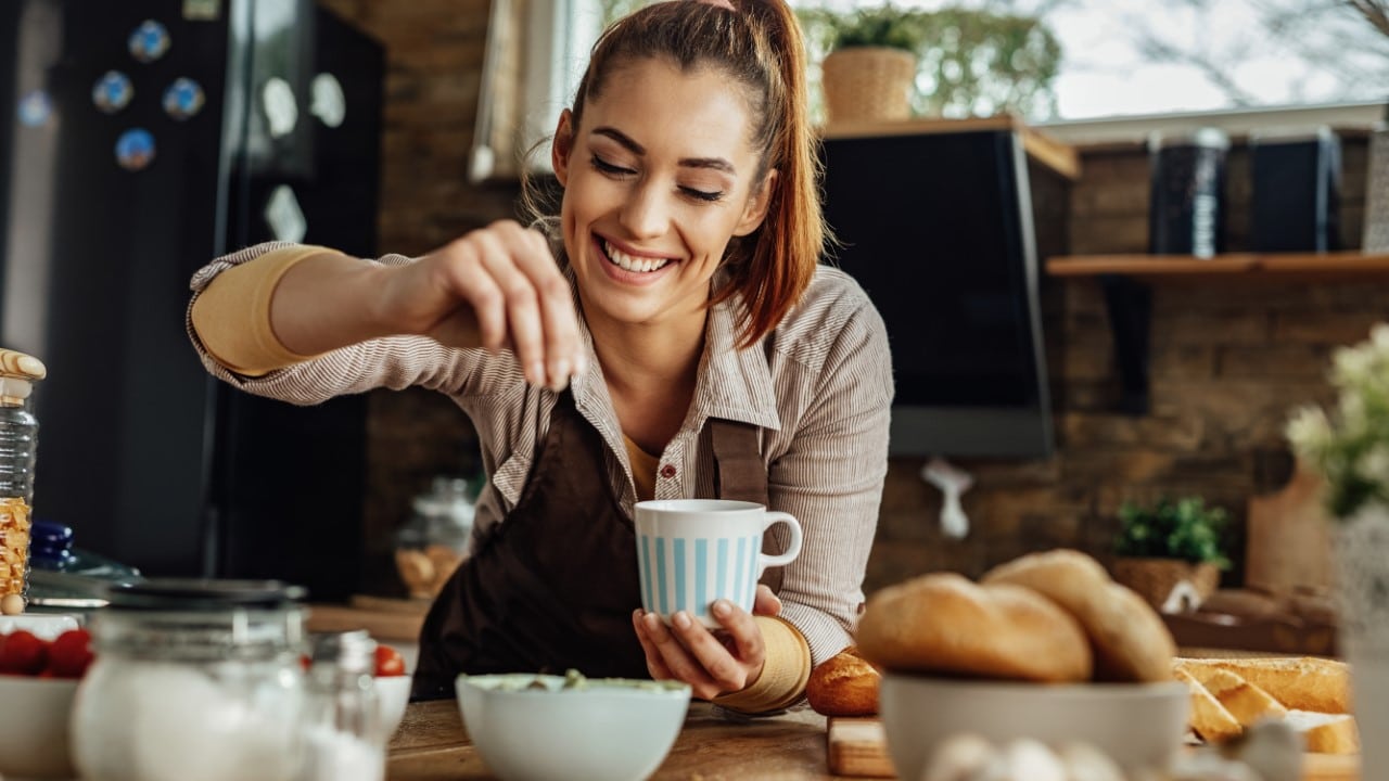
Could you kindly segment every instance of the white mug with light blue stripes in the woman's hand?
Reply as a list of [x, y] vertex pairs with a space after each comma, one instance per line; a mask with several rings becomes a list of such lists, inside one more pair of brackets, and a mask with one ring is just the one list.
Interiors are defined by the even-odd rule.
[[[785, 523], [790, 542], [778, 556], [763, 553], [763, 532]], [[642, 607], [665, 623], [678, 610], [710, 628], [721, 624], [710, 605], [728, 599], [753, 610], [757, 579], [767, 567], [800, 553], [800, 521], [754, 502], [657, 499], [636, 503], [636, 564]]]

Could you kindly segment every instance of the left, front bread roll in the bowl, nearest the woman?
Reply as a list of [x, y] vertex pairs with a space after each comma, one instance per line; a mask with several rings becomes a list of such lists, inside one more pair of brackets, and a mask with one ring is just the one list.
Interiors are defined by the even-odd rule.
[[1070, 613], [1031, 589], [981, 586], [956, 573], [875, 592], [857, 641], [864, 659], [897, 671], [1071, 682], [1093, 670]]

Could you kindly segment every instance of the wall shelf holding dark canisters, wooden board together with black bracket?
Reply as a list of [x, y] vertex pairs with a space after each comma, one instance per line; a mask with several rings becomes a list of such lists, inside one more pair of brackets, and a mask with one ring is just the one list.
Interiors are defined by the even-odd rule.
[[1114, 334], [1114, 365], [1120, 379], [1121, 411], [1142, 416], [1149, 410], [1149, 335], [1153, 285], [1168, 282], [1224, 283], [1299, 281], [1339, 282], [1389, 275], [1389, 254], [1363, 252], [1328, 253], [1226, 253], [1211, 258], [1156, 254], [1095, 254], [1051, 257], [1051, 277], [1095, 278], [1104, 289], [1104, 303]]

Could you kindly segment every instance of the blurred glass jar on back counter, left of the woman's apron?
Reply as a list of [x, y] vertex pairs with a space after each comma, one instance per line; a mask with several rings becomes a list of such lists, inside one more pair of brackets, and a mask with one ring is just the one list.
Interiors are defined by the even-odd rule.
[[396, 570], [410, 596], [432, 599], [469, 553], [474, 504], [468, 481], [435, 477], [411, 509], [410, 523], [396, 535]]

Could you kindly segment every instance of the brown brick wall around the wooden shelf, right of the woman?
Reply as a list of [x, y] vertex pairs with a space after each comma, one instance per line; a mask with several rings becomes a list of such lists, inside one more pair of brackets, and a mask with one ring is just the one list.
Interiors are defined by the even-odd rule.
[[[1360, 240], [1365, 143], [1343, 139], [1343, 246]], [[1082, 178], [1070, 186], [1070, 252], [1140, 253], [1147, 246], [1149, 163], [1140, 146], [1082, 149]], [[1035, 170], [1033, 170], [1035, 171]], [[1247, 236], [1247, 156], [1231, 151], [1228, 250]], [[1039, 193], [1039, 243], [1058, 193]], [[1057, 453], [1047, 461], [961, 461], [975, 477], [964, 507], [965, 541], [940, 535], [939, 493], [922, 484], [921, 460], [892, 464], [870, 591], [929, 570], [985, 568], [1028, 550], [1078, 546], [1108, 553], [1115, 511], [1126, 499], [1201, 495], [1233, 518], [1239, 582], [1246, 503], [1286, 478], [1270, 468], [1285, 453], [1289, 410], [1328, 397], [1324, 372], [1336, 346], [1363, 339], [1389, 313], [1389, 285], [1210, 277], [1153, 285], [1151, 406], [1115, 411], [1113, 340], [1095, 279], [1043, 277], [1043, 329], [1056, 409]]]

